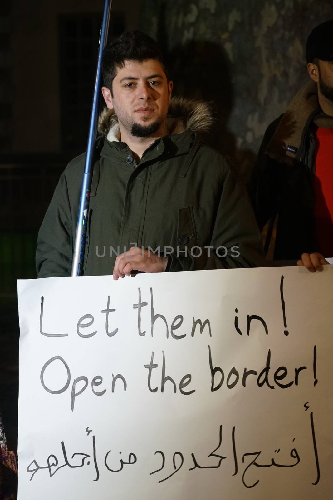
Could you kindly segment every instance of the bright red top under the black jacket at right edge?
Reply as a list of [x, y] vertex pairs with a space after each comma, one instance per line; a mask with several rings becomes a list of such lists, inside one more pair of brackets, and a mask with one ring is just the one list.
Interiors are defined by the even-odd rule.
[[333, 130], [319, 127], [314, 177], [314, 251], [333, 257]]

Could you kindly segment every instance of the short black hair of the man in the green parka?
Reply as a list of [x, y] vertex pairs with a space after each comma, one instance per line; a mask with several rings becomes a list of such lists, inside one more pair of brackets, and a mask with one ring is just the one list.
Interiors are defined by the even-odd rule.
[[125, 60], [142, 62], [147, 59], [158, 60], [168, 79], [165, 59], [157, 42], [138, 29], [124, 31], [104, 48], [102, 57], [104, 85], [112, 94], [112, 81], [117, 74], [117, 68], [124, 67]]

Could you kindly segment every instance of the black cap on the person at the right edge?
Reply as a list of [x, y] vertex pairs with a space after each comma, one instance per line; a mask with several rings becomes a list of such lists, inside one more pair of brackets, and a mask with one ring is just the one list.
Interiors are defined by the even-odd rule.
[[306, 45], [307, 62], [316, 57], [322, 61], [333, 60], [333, 19], [316, 26], [310, 33]]

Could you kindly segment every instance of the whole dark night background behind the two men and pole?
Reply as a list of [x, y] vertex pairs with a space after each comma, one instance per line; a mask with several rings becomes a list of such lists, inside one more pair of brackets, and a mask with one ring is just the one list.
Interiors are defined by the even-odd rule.
[[[85, 150], [102, 0], [0, 6], [0, 411], [17, 447], [16, 279], [36, 277], [39, 225]], [[169, 58], [175, 92], [215, 106], [210, 141], [246, 179], [267, 125], [307, 81], [304, 45], [331, 0], [113, 0], [109, 41], [138, 27]]]

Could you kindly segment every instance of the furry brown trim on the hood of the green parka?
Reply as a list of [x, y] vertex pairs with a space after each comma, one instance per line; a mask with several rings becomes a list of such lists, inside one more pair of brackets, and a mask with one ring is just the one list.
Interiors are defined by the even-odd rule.
[[[169, 135], [187, 130], [207, 132], [214, 123], [211, 106], [208, 102], [172, 97], [167, 124]], [[98, 132], [109, 141], [120, 140], [118, 118], [113, 109], [103, 109], [98, 119]]]

